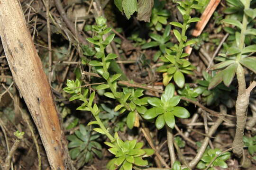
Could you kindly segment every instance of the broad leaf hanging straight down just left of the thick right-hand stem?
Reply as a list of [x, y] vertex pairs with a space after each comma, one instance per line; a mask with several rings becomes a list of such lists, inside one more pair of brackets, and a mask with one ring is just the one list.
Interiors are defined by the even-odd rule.
[[223, 72], [223, 83], [224, 85], [226, 85], [227, 87], [229, 87], [229, 85], [231, 84], [236, 71], [238, 68], [238, 63], [234, 63], [229, 65], [229, 67], [225, 68], [222, 72]]

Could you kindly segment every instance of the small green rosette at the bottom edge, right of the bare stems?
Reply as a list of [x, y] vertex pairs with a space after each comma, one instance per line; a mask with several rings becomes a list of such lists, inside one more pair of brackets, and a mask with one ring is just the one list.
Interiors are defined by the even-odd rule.
[[[217, 157], [215, 159], [215, 157]], [[208, 149], [204, 152], [201, 161], [198, 162], [197, 168], [198, 169], [205, 169], [211, 161], [212, 164], [210, 165], [210, 168], [208, 170], [215, 170], [214, 167], [221, 167], [221, 168], [228, 168], [228, 165], [225, 161], [227, 161], [230, 158], [230, 153], [225, 152], [221, 153], [220, 149]]]

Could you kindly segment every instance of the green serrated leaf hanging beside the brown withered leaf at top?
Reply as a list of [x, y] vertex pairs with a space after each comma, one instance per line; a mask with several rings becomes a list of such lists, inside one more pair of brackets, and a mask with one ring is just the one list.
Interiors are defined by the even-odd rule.
[[137, 0], [123, 0], [122, 2], [125, 16], [130, 19], [131, 15], [137, 11], [138, 2]]

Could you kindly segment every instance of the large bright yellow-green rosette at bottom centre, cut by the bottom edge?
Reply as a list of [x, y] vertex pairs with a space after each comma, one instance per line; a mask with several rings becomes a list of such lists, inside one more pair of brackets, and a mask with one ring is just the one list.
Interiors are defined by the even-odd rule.
[[142, 157], [148, 157], [155, 153], [153, 149], [142, 149], [143, 142], [137, 140], [122, 141], [119, 139], [117, 133], [115, 134], [115, 143], [105, 142], [111, 148], [110, 153], [115, 155], [115, 158], [109, 161], [107, 168], [109, 170], [132, 170], [132, 167], [145, 167], [148, 165], [146, 160]]

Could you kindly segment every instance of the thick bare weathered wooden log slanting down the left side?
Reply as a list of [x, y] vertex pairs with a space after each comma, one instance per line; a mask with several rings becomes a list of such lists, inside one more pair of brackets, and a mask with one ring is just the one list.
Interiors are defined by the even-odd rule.
[[52, 170], [73, 170], [67, 141], [18, 0], [0, 0], [0, 37], [9, 68], [37, 126]]

